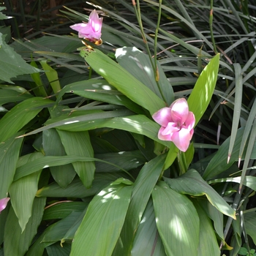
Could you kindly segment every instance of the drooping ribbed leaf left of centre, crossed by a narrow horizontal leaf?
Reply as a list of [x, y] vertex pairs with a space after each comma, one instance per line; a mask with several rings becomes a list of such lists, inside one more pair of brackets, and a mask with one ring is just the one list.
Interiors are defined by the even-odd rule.
[[[75, 154], [80, 157], [94, 157], [88, 131], [68, 132], [58, 130], [58, 133], [68, 156]], [[93, 161], [72, 162], [72, 165], [84, 186], [91, 187], [91, 182], [94, 179], [95, 163]]]

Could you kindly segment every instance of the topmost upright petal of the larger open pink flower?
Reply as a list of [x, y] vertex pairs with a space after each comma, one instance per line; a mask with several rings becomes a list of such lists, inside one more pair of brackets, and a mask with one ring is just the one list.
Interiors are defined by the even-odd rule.
[[189, 105], [187, 105], [186, 99], [176, 99], [176, 101], [170, 105], [170, 109], [172, 110], [171, 115], [173, 121], [183, 124], [187, 120]]

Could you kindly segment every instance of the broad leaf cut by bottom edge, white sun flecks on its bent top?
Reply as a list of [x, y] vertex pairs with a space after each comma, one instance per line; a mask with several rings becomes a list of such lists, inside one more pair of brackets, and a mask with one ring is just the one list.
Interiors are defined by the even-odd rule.
[[91, 200], [83, 222], [75, 233], [71, 256], [112, 255], [124, 224], [131, 193], [132, 186], [110, 185]]

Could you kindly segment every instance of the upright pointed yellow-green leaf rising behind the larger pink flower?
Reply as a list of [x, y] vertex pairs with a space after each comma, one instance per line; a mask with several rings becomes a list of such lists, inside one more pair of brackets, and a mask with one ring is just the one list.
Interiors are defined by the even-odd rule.
[[189, 104], [189, 111], [195, 115], [195, 125], [200, 121], [200, 118], [205, 113], [206, 108], [211, 100], [214, 88], [217, 82], [217, 75], [219, 71], [219, 54], [214, 56], [208, 65], [203, 69], [192, 93], [187, 100]]

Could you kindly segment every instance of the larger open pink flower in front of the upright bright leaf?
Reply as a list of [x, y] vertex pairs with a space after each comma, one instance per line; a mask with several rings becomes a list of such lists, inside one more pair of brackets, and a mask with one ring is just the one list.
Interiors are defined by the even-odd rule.
[[176, 99], [170, 108], [161, 108], [152, 117], [162, 126], [158, 132], [160, 140], [173, 141], [179, 150], [187, 151], [194, 133], [195, 116], [189, 111], [186, 99]]

